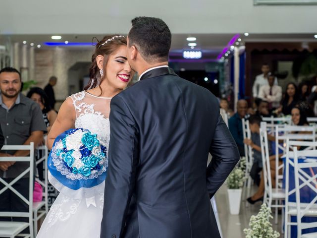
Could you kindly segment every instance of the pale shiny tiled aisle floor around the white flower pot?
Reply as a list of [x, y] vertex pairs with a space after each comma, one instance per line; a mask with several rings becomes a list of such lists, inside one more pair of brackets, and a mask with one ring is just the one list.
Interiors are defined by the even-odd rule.
[[[255, 189], [256, 187], [253, 187], [254, 191]], [[246, 201], [244, 200], [241, 202], [240, 214], [230, 215], [226, 185], [223, 185], [218, 190], [215, 199], [220, 219], [222, 238], [245, 238], [243, 229], [249, 227], [249, 220], [252, 215], [256, 215], [259, 212], [261, 202], [257, 202], [254, 205], [250, 204], [246, 207]], [[274, 212], [274, 210], [272, 212]], [[279, 215], [278, 218], [277, 225], [274, 224], [273, 220], [271, 223], [273, 224], [273, 229], [280, 233], [280, 238], [283, 238], [284, 236], [281, 234], [281, 215]]]

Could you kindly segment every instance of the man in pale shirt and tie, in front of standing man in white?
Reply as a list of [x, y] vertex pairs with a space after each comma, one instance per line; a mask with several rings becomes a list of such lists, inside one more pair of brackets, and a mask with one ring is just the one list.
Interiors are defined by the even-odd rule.
[[268, 109], [279, 108], [282, 99], [282, 87], [274, 85], [275, 76], [268, 76], [268, 85], [260, 88], [258, 97], [268, 102]]

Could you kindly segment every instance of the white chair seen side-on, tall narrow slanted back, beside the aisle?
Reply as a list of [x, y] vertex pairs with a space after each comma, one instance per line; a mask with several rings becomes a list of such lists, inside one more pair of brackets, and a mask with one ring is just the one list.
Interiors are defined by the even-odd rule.
[[[275, 208], [275, 224], [277, 224], [278, 208], [284, 208], [282, 201], [285, 199], [285, 190], [278, 187], [275, 187], [275, 188], [272, 187], [266, 122], [261, 122], [260, 139], [261, 139], [262, 163], [263, 163], [263, 174], [264, 174], [263, 202], [266, 203], [268, 207]], [[275, 204], [272, 204], [273, 200], [275, 201]], [[282, 209], [282, 212], [283, 212], [283, 209]], [[284, 219], [284, 216], [282, 216], [282, 220], [283, 219]], [[282, 221], [282, 227], [283, 227], [283, 221]]]

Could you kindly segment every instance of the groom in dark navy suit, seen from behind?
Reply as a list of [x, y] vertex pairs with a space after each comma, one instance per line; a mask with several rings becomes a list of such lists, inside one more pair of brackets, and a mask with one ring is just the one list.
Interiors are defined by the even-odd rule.
[[133, 19], [127, 43], [140, 82], [111, 100], [101, 238], [220, 238], [210, 198], [239, 152], [219, 103], [168, 67], [161, 19]]

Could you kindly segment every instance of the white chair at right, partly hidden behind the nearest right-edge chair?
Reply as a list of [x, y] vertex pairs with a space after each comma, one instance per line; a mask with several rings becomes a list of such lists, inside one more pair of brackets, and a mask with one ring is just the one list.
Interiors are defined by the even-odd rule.
[[[289, 138], [286, 141], [286, 157], [285, 157], [285, 224], [284, 224], [284, 237], [290, 237], [290, 226], [297, 226], [297, 222], [291, 222], [291, 216], [297, 216], [297, 208], [296, 202], [290, 202], [289, 196], [295, 193], [295, 189], [289, 190], [289, 170], [294, 169], [294, 162], [290, 160], [290, 158], [294, 158], [294, 152], [290, 151], [293, 150], [294, 147], [297, 146], [305, 146], [306, 148], [304, 151], [313, 150], [317, 146], [317, 142], [310, 142], [310, 141], [292, 141]], [[317, 151], [315, 151], [316, 153]], [[314, 152], [310, 152], [314, 153]], [[317, 153], [315, 154], [317, 155]], [[301, 184], [300, 188], [303, 187], [305, 184]], [[317, 216], [317, 209], [311, 210], [309, 213], [306, 214], [307, 216]]]

